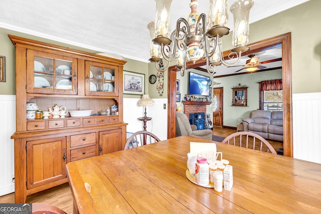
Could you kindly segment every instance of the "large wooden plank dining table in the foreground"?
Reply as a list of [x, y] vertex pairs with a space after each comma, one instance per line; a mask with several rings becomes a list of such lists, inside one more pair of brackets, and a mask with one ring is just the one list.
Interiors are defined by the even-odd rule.
[[180, 136], [67, 164], [74, 213], [321, 213], [321, 164], [216, 142], [233, 166], [221, 193], [186, 176]]

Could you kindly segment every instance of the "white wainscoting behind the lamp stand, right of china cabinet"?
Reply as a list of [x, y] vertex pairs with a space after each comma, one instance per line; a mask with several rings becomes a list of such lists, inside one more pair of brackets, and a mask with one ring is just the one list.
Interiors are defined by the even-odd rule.
[[[137, 106], [137, 102], [140, 99], [136, 98], [124, 98], [123, 110], [124, 110], [124, 122], [128, 123], [127, 132], [136, 132], [143, 130], [143, 122], [139, 121], [138, 117], [144, 116], [144, 108]], [[152, 99], [155, 103], [152, 106], [147, 106], [147, 117], [151, 117], [150, 121], [147, 121], [147, 131], [155, 134], [159, 139], [167, 139], [167, 119], [168, 119], [168, 106], [167, 99]], [[166, 109], [163, 105], [166, 104]]]

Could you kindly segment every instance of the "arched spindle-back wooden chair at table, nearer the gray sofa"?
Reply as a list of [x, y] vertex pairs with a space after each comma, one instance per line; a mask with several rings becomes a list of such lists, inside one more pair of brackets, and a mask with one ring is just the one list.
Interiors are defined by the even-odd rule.
[[[251, 138], [253, 140], [250, 140]], [[262, 151], [264, 147], [263, 144], [265, 144], [266, 146], [265, 148], [267, 149], [267, 152], [276, 154], [276, 151], [274, 150], [274, 148], [271, 146], [269, 142], [267, 142], [260, 135], [255, 134], [253, 132], [240, 131], [240, 132], [230, 134], [222, 141], [222, 143], [239, 145], [240, 147], [246, 147], [246, 148], [250, 148], [251, 146], [254, 150], [260, 150], [260, 151]], [[259, 149], [255, 149], [256, 145], [259, 145]]]

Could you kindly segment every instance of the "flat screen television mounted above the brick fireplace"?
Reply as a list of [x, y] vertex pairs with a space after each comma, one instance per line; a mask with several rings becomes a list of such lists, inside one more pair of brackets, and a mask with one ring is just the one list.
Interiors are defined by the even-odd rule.
[[210, 96], [210, 77], [190, 72], [189, 94], [199, 96]]

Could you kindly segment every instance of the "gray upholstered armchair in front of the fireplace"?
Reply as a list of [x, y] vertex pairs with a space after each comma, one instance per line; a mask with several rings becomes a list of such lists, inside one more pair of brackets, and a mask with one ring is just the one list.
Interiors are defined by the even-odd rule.
[[191, 125], [188, 117], [182, 112], [176, 112], [176, 136], [190, 135], [212, 140], [211, 129], [197, 130], [196, 125]]

